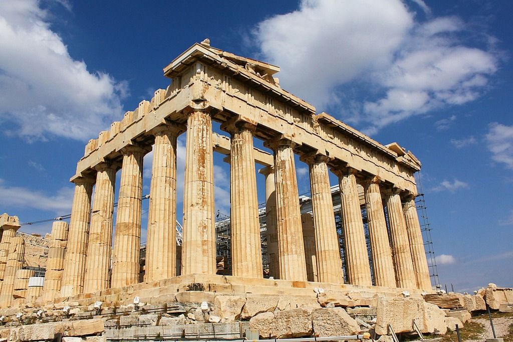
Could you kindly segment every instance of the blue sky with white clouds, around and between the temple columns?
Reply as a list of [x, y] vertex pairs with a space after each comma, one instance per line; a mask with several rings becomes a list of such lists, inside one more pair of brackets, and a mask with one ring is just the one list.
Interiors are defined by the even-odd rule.
[[[209, 37], [279, 65], [282, 87], [318, 112], [422, 161], [442, 284], [513, 286], [512, 10], [485, 0], [1, 2], [0, 212], [23, 222], [68, 214], [87, 140], [165, 88], [162, 68]], [[228, 214], [222, 158], [216, 210]], [[258, 176], [260, 202], [263, 185]]]

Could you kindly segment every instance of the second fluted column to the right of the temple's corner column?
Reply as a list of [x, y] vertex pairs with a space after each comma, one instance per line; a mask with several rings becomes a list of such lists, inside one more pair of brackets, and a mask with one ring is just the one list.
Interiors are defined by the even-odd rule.
[[266, 145], [274, 151], [280, 279], [306, 281], [305, 248], [293, 150], [295, 143], [279, 139], [267, 142]]

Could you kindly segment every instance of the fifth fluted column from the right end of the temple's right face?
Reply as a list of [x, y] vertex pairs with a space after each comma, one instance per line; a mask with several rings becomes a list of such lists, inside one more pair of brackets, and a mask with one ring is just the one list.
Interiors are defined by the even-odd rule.
[[339, 237], [333, 214], [331, 186], [329, 184], [329, 157], [305, 157], [310, 169], [315, 250], [317, 251], [317, 276], [321, 282], [343, 283]]

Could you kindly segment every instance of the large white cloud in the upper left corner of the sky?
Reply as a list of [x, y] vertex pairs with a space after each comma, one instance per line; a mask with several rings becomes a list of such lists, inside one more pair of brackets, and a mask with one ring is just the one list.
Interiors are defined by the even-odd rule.
[[72, 58], [39, 5], [0, 2], [0, 121], [30, 140], [93, 138], [121, 118], [127, 84]]

